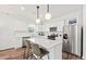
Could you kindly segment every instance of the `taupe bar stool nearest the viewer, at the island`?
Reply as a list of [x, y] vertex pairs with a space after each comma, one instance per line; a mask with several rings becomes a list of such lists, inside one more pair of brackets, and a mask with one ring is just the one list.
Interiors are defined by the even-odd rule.
[[45, 55], [48, 56], [48, 60], [49, 60], [49, 51], [42, 49], [42, 48], [39, 48], [39, 46], [37, 43], [30, 43], [32, 46], [32, 60], [42, 60], [42, 57]]

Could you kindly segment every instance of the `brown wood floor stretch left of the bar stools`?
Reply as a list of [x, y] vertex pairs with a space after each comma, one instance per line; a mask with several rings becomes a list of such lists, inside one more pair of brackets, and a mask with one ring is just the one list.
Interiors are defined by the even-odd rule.
[[23, 60], [24, 49], [8, 49], [0, 51], [0, 60]]

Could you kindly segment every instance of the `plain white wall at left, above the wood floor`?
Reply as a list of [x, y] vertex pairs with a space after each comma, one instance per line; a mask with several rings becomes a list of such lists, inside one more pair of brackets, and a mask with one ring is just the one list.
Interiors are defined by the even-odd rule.
[[17, 30], [26, 30], [26, 24], [8, 15], [0, 15], [0, 50], [21, 47]]

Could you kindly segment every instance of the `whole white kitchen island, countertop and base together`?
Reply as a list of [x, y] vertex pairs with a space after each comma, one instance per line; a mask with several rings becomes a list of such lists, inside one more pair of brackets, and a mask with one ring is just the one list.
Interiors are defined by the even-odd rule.
[[[32, 37], [30, 40], [34, 43], [45, 48], [49, 51], [49, 60], [62, 60], [62, 38], [58, 37], [56, 40], [50, 40], [47, 37]], [[45, 60], [48, 57], [45, 56]]]

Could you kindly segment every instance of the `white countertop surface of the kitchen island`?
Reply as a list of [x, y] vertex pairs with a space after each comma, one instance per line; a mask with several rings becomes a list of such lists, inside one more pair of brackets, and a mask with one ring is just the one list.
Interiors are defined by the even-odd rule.
[[61, 37], [58, 37], [56, 40], [51, 40], [51, 39], [48, 39], [48, 38], [41, 36], [41, 37], [33, 37], [27, 40], [30, 40], [32, 42], [35, 42], [41, 47], [45, 47], [46, 49], [50, 49], [57, 44], [62, 43]]

